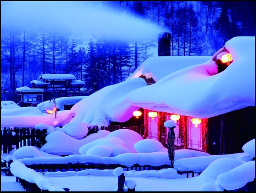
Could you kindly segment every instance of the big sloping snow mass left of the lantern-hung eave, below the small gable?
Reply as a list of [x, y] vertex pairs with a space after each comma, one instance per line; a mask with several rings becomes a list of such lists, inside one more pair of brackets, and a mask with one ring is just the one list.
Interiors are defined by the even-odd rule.
[[140, 78], [106, 86], [76, 103], [70, 109], [71, 113], [76, 114], [71, 121], [82, 121], [99, 127], [109, 125], [110, 121], [127, 121], [133, 116], [133, 111], [139, 108], [131, 105], [126, 95], [146, 85]]

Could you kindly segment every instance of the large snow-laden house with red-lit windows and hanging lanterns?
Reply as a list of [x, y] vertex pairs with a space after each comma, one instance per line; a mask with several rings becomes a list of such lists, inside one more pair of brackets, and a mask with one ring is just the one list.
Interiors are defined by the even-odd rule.
[[[151, 57], [128, 79], [139, 77], [156, 82], [126, 96], [143, 108], [146, 137], [166, 145], [168, 128], [163, 123], [173, 114], [180, 115], [177, 148], [222, 154], [230, 153], [225, 147], [233, 145], [229, 149], [239, 152], [255, 137], [255, 37], [233, 38], [214, 56]], [[150, 111], [158, 116], [150, 118]], [[232, 119], [229, 112], [233, 122], [225, 120]], [[192, 124], [193, 118], [201, 123]]]

